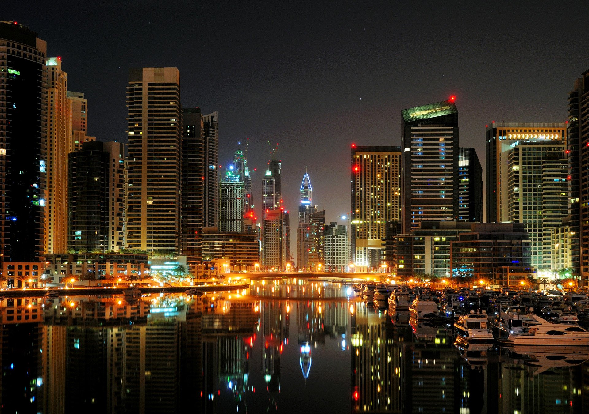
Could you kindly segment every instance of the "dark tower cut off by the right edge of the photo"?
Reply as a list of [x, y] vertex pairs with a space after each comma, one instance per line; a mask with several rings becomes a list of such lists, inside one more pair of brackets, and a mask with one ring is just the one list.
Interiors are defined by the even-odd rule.
[[[589, 283], [589, 70], [575, 80], [568, 95], [568, 233], [574, 238], [572, 255], [579, 255], [575, 274], [581, 275], [583, 285]], [[577, 261], [574, 261], [575, 264]]]

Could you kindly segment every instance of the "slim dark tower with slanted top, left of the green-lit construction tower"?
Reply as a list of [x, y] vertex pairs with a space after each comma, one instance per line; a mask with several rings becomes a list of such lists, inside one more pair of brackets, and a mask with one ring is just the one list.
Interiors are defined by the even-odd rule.
[[219, 227], [219, 112], [203, 116], [204, 121], [204, 226]]

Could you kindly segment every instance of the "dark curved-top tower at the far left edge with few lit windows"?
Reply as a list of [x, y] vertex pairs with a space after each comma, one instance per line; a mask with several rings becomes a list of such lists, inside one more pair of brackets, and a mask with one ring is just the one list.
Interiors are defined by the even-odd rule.
[[[44, 254], [47, 44], [26, 26], [0, 22], [0, 260]], [[49, 126], [52, 128], [52, 126]]]

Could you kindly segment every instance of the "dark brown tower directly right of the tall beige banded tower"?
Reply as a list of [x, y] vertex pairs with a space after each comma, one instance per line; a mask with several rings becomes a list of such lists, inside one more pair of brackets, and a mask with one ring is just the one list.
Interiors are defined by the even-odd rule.
[[182, 109], [181, 143], [181, 253], [188, 263], [201, 261], [204, 228], [205, 172], [204, 119], [200, 108]]

